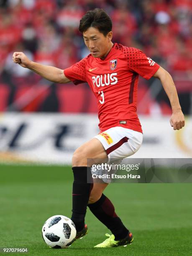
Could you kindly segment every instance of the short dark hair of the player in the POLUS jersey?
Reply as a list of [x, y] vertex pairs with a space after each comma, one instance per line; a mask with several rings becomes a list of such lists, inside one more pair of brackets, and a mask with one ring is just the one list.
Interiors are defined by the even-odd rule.
[[83, 33], [90, 27], [97, 28], [100, 33], [106, 36], [112, 30], [111, 18], [103, 9], [90, 10], [81, 18], [79, 31]]

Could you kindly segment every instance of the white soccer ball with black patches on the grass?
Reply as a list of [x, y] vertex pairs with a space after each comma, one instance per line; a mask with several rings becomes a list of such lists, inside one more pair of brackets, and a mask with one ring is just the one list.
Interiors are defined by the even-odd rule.
[[76, 236], [76, 228], [72, 220], [63, 215], [54, 215], [43, 225], [42, 236], [46, 244], [52, 248], [67, 248]]

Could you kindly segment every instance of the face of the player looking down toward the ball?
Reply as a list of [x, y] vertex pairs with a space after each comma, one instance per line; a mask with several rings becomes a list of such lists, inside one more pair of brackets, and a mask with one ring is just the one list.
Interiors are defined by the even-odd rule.
[[104, 36], [97, 28], [90, 27], [83, 32], [84, 43], [95, 58], [104, 58], [110, 51], [113, 33], [109, 32]]

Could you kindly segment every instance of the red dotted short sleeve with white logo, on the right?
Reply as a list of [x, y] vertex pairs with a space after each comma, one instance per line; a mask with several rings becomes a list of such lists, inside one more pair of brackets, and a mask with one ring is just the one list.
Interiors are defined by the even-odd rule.
[[150, 79], [159, 69], [155, 61], [147, 57], [141, 50], [129, 47], [127, 51], [128, 68], [141, 75], [145, 79]]

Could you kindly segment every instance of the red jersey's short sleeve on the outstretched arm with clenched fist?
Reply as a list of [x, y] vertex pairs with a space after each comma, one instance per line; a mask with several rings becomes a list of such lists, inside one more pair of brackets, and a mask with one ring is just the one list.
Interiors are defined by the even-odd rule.
[[64, 69], [64, 75], [74, 84], [81, 84], [87, 82], [85, 67], [87, 58], [75, 63], [71, 67]]

